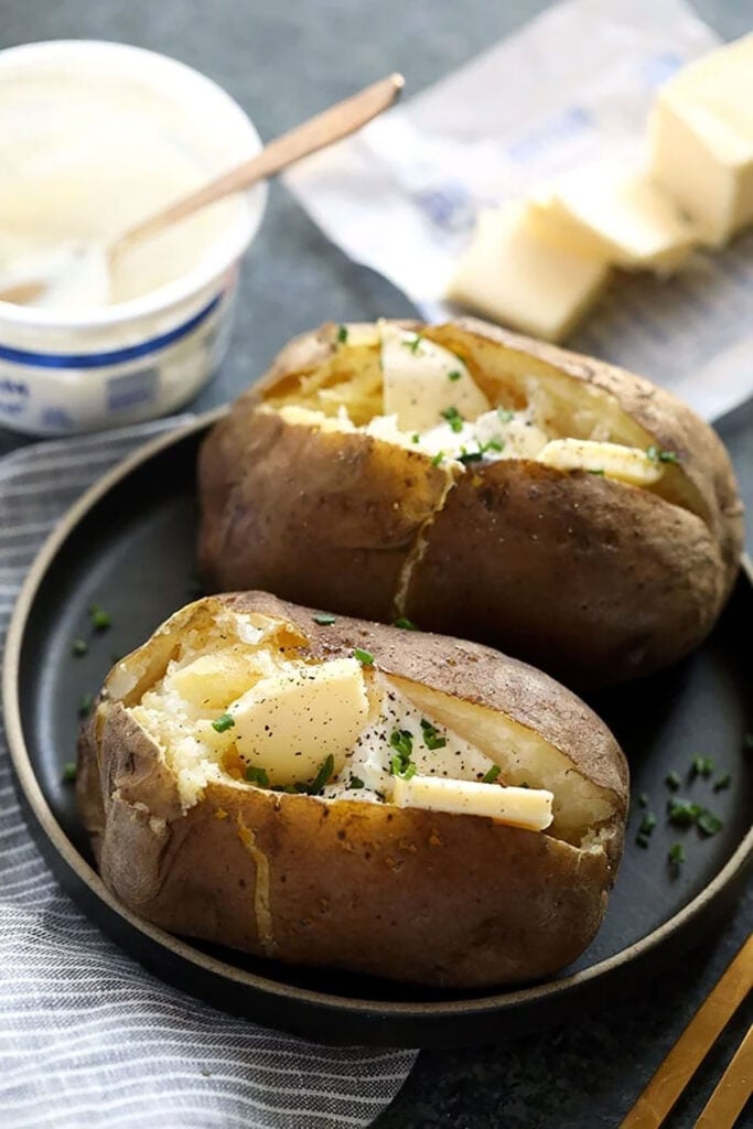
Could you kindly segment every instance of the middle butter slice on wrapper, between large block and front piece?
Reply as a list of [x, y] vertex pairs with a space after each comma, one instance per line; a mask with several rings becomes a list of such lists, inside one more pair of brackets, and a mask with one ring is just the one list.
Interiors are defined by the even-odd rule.
[[545, 239], [624, 270], [671, 274], [700, 242], [698, 224], [648, 176], [596, 165], [560, 177], [532, 201]]

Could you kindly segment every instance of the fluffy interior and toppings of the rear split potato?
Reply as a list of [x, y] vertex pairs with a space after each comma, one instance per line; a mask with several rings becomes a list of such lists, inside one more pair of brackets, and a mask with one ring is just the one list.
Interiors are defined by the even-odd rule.
[[326, 361], [286, 377], [265, 404], [289, 423], [365, 431], [458, 469], [536, 460], [703, 513], [675, 454], [657, 450], [616, 397], [452, 324], [341, 326]]

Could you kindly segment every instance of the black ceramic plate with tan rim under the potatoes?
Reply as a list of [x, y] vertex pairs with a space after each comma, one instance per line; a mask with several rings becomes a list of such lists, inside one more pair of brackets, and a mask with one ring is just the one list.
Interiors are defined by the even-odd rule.
[[[180, 940], [119, 907], [90, 866], [61, 770], [73, 756], [77, 703], [98, 689], [113, 653], [130, 650], [195, 596], [193, 482], [207, 427], [204, 418], [160, 438], [71, 510], [37, 558], [8, 636], [6, 720], [29, 829], [102, 929], [157, 975], [260, 1023], [327, 1042], [457, 1045], [519, 1034], [636, 990], [713, 928], [742, 889], [753, 847], [753, 756], [744, 751], [753, 587], [745, 575], [697, 655], [592, 702], [630, 759], [633, 811], [604, 926], [551, 981], [483, 995], [414, 989]], [[112, 613], [113, 627], [73, 660], [71, 640], [85, 632], [93, 603]], [[713, 779], [729, 773], [732, 786], [715, 793], [712, 779], [689, 782], [694, 754], [711, 756]], [[717, 834], [703, 839], [695, 828], [667, 825], [672, 771], [683, 780], [682, 795], [724, 820]], [[640, 794], [657, 815], [648, 848], [636, 843]], [[667, 863], [676, 841], [686, 855], [678, 869]]]

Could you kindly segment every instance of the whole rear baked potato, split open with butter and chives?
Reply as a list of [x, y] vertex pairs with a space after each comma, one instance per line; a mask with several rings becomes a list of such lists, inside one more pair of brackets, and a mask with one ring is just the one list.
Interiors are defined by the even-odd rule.
[[685, 404], [473, 318], [296, 339], [209, 435], [199, 489], [212, 590], [406, 618], [579, 686], [692, 650], [743, 535]]

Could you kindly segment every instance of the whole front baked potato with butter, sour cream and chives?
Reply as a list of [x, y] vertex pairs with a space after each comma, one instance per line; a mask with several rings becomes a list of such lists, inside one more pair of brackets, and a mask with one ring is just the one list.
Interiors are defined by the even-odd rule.
[[165, 929], [480, 988], [588, 945], [628, 771], [540, 671], [251, 593], [190, 604], [117, 663], [77, 793], [104, 882]]

